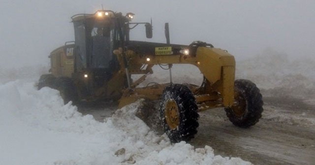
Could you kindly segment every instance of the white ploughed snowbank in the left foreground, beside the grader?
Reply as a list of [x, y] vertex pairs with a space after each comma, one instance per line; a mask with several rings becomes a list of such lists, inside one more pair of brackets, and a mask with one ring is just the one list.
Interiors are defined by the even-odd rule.
[[251, 165], [215, 156], [209, 146], [170, 144], [135, 116], [139, 103], [103, 123], [63, 105], [57, 90], [34, 83], [0, 85], [1, 165]]

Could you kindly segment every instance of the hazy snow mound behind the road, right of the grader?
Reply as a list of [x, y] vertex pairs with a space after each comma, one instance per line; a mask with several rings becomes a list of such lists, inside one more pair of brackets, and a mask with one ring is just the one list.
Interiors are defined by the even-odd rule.
[[315, 95], [315, 61], [290, 60], [287, 55], [265, 50], [236, 63], [236, 78], [249, 79], [265, 94], [308, 98]]

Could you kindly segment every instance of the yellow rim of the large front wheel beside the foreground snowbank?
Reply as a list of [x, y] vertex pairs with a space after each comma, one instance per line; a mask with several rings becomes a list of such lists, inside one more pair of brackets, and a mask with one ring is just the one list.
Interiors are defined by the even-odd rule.
[[173, 99], [167, 100], [165, 104], [165, 120], [171, 130], [179, 126], [179, 111], [178, 106]]

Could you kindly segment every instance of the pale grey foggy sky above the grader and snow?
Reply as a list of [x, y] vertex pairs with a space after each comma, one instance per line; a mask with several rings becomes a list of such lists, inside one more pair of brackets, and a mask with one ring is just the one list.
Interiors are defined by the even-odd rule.
[[315, 0], [0, 0], [0, 68], [48, 65], [49, 53], [73, 40], [70, 17], [101, 9], [135, 13], [134, 22], [153, 20], [154, 37], [144, 27], [134, 40], [171, 43], [201, 40], [237, 59], [272, 48], [315, 59]]

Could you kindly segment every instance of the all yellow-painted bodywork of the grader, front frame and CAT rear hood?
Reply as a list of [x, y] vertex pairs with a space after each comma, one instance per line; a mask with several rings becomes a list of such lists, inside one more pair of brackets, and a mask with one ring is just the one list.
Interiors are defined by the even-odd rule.
[[[51, 55], [51, 72], [54, 76], [71, 77], [74, 68], [74, 58], [71, 54], [71, 46], [63, 46], [54, 50]], [[114, 73], [113, 78], [95, 91], [95, 97], [122, 95], [119, 100], [119, 107], [124, 107], [138, 99], [144, 98], [157, 100], [160, 98], [163, 89], [169, 84], [158, 84], [149, 87], [138, 88], [146, 76], [153, 74], [152, 67], [156, 64], [192, 64], [199, 68], [206, 79], [203, 89], [190, 85], [190, 90], [195, 94], [199, 110], [207, 110], [216, 107], [231, 107], [234, 103], [234, 79], [235, 59], [227, 51], [218, 48], [199, 47], [195, 56], [170, 53], [170, 47], [158, 49], [159, 55], [139, 56], [135, 52], [127, 50], [123, 54], [122, 49], [115, 50], [121, 69]], [[164, 52], [163, 52], [164, 51]], [[163, 55], [165, 54], [165, 55]], [[133, 80], [131, 89], [124, 89], [122, 86], [126, 81], [126, 66], [123, 56], [128, 61], [129, 74], [143, 74], [138, 80]], [[147, 58], [150, 58], [148, 61]], [[147, 64], [145, 68], [141, 68]]]

